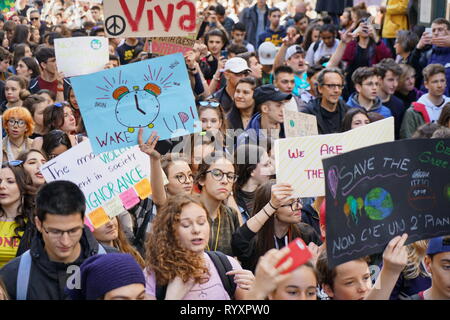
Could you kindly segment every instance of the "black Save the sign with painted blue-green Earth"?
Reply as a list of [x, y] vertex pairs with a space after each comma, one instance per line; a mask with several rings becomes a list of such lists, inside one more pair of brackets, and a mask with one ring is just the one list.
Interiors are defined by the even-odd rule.
[[450, 234], [450, 139], [383, 143], [323, 160], [328, 263]]

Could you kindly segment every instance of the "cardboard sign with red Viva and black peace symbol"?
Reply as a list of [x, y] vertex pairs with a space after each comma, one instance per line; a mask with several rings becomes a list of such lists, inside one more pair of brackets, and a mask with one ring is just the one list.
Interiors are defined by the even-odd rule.
[[179, 37], [196, 30], [195, 0], [105, 1], [110, 37]]

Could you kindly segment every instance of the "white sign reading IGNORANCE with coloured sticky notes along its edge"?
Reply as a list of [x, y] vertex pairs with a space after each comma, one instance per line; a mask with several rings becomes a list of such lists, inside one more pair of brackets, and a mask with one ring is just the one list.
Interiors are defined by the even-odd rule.
[[87, 217], [95, 228], [109, 221], [105, 214], [114, 217], [125, 211], [128, 202], [121, 196], [129, 190], [135, 189], [138, 195], [149, 193], [141, 185], [150, 179], [150, 159], [138, 146], [95, 155], [84, 141], [48, 161], [41, 172], [47, 182], [67, 180], [80, 187], [86, 197]]

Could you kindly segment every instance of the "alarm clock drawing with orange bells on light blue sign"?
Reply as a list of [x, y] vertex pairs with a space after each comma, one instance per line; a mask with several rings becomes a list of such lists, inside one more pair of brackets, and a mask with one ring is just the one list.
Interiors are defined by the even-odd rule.
[[117, 121], [131, 133], [135, 128], [153, 128], [160, 110], [160, 94], [161, 88], [153, 83], [147, 83], [142, 90], [139, 86], [134, 86], [133, 91], [126, 86], [117, 88], [113, 92], [113, 98], [117, 100]]

